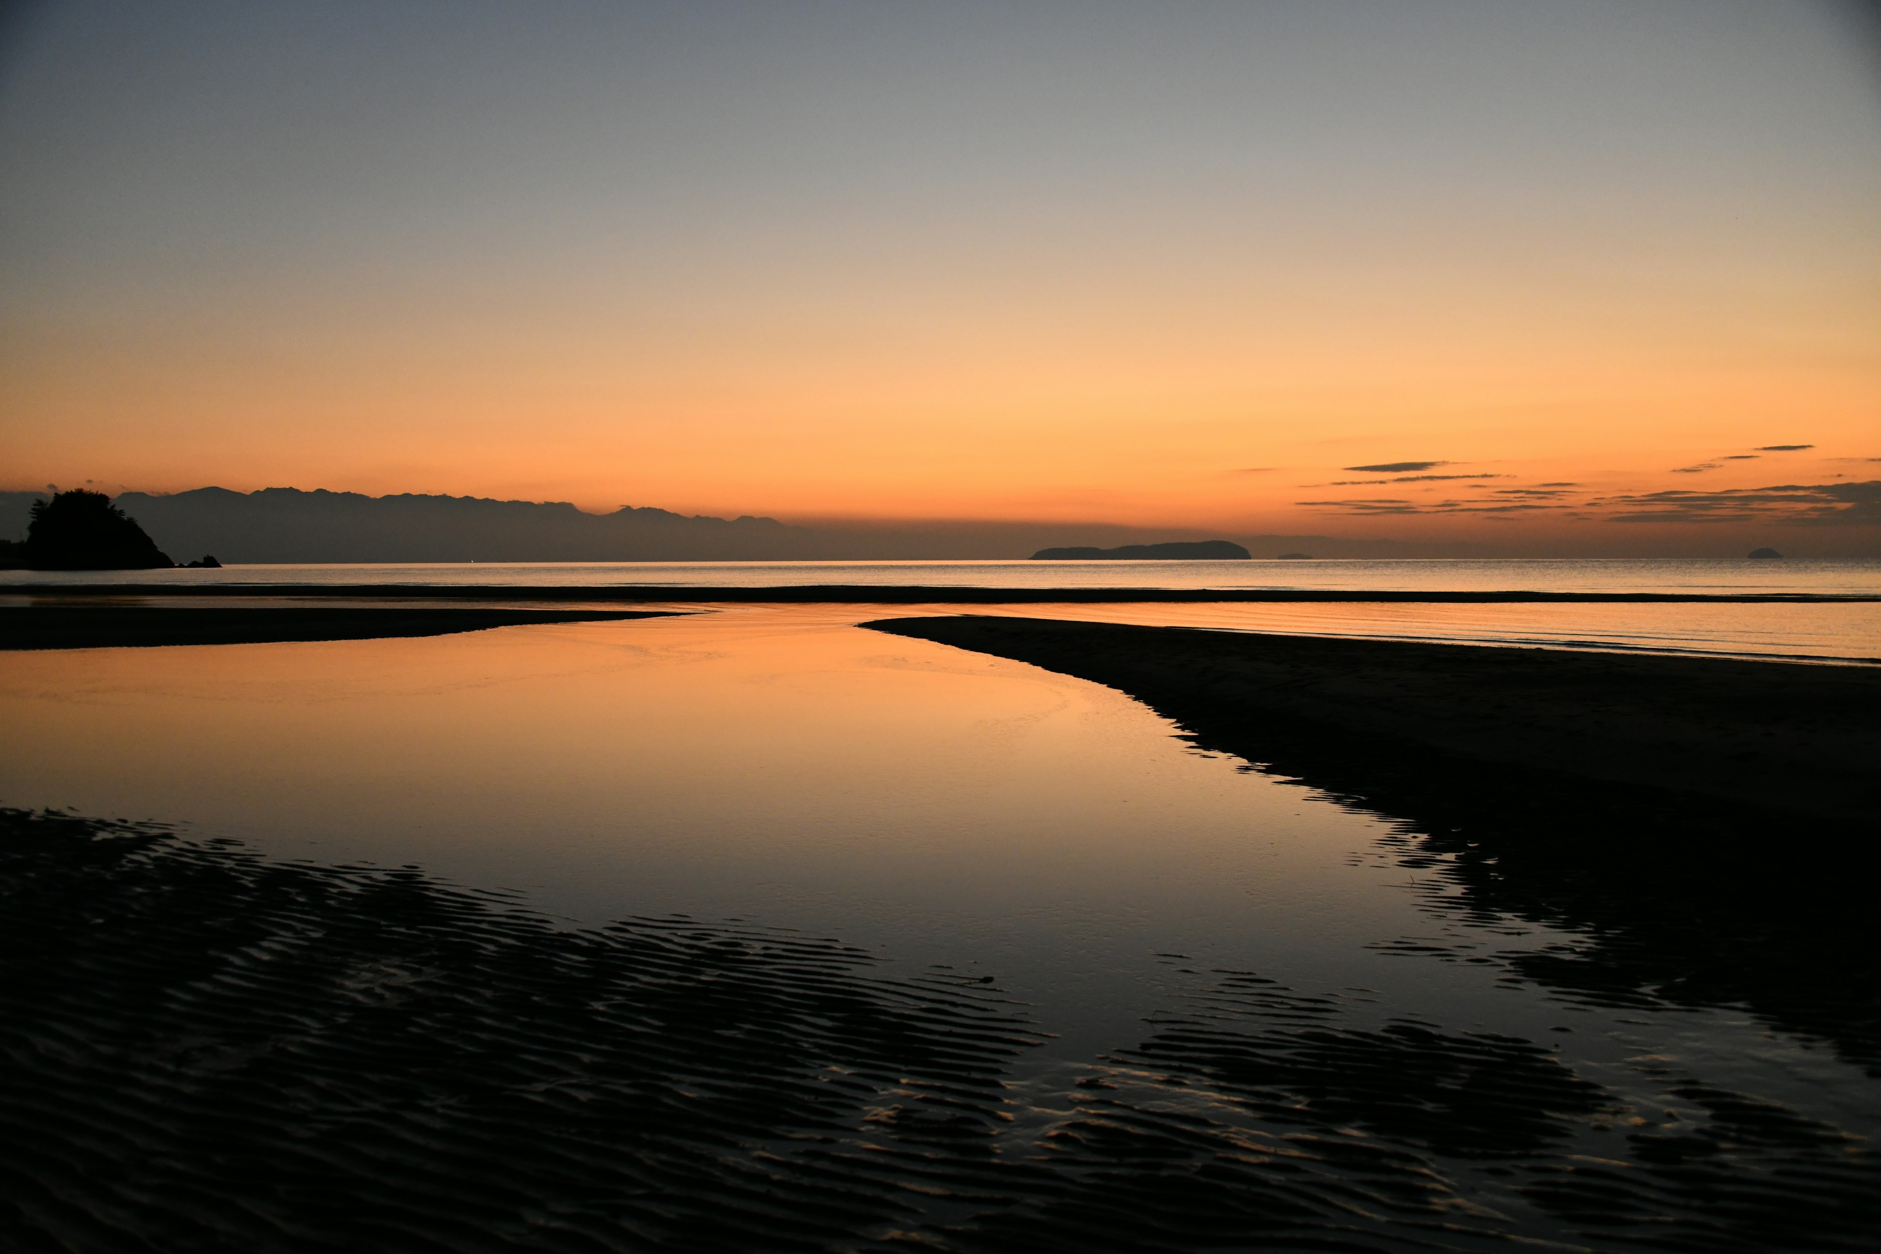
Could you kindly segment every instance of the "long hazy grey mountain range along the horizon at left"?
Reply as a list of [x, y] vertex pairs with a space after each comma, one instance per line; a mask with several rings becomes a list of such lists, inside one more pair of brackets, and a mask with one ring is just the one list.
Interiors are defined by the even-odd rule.
[[[0, 547], [21, 538], [49, 493], [0, 493]], [[1106, 523], [719, 519], [655, 508], [585, 513], [566, 502], [482, 496], [365, 496], [267, 487], [235, 493], [122, 493], [115, 504], [164, 553], [214, 553], [224, 562], [764, 562], [764, 560], [999, 560], [1048, 547], [1206, 541], [1208, 532]], [[1486, 556], [1471, 543], [1405, 543], [1332, 536], [1236, 536], [1236, 547], [1273, 558]], [[1226, 541], [1213, 541], [1226, 543]], [[1134, 555], [1132, 555], [1134, 556]], [[1151, 555], [1146, 555], [1151, 556]], [[1176, 555], [1170, 555], [1176, 556]], [[1240, 556], [1230, 555], [1230, 556]], [[13, 562], [19, 564], [19, 562]]]

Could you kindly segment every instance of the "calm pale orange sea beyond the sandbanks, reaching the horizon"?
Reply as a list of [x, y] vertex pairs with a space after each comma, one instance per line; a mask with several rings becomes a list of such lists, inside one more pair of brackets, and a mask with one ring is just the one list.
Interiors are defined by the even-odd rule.
[[[8, 583], [1337, 588], [1381, 592], [1704, 592], [1881, 596], [1875, 560], [1445, 560], [1445, 562], [570, 562], [435, 566], [229, 566], [167, 572], [4, 572]], [[978, 607], [1112, 622], [1486, 645], [1881, 660], [1881, 602], [1672, 605], [1114, 603]]]

